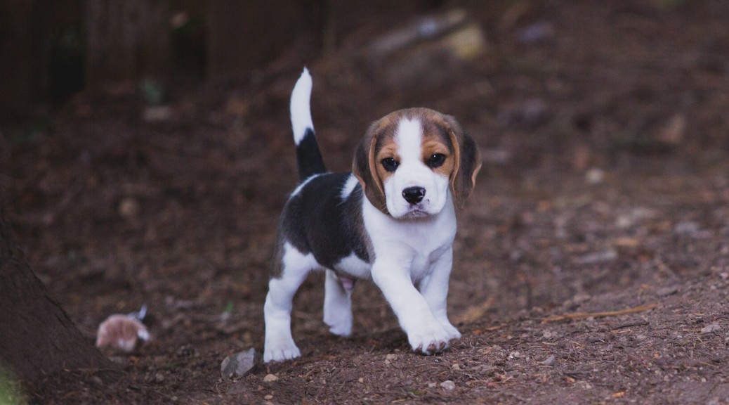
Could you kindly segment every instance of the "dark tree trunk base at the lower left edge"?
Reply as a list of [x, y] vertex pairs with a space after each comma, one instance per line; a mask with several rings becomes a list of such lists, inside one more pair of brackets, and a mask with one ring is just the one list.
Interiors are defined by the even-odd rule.
[[0, 215], [0, 363], [36, 381], [62, 370], [115, 368], [52, 301]]

